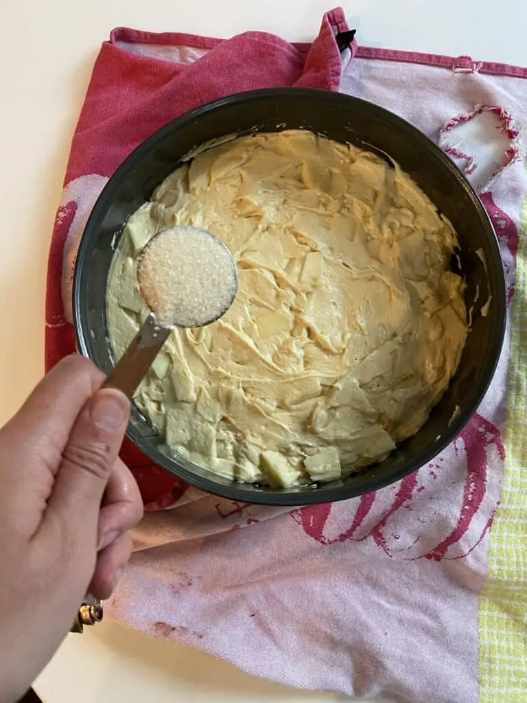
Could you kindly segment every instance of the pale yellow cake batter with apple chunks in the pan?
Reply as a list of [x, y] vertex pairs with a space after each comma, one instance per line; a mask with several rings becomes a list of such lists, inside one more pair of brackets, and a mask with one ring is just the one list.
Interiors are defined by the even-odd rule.
[[238, 264], [223, 318], [174, 330], [134, 399], [167, 444], [220, 475], [291, 486], [378, 462], [415, 434], [467, 336], [457, 236], [410, 177], [308, 131], [237, 138], [131, 216], [108, 280], [116, 358], [148, 314], [137, 259], [176, 224]]

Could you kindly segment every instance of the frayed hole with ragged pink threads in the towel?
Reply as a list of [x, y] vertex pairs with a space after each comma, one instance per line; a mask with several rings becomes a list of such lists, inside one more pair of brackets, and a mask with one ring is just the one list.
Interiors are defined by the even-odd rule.
[[519, 127], [507, 108], [476, 105], [472, 112], [453, 117], [445, 124], [438, 144], [481, 192], [518, 160], [519, 135]]

